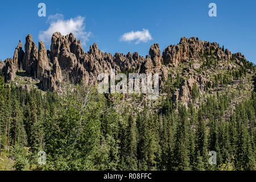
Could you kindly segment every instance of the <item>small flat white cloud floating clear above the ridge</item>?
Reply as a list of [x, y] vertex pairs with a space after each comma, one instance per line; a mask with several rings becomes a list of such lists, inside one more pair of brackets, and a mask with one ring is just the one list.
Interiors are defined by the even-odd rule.
[[141, 42], [148, 42], [148, 40], [152, 40], [152, 36], [150, 35], [150, 32], [147, 29], [144, 29], [142, 31], [131, 31], [127, 32], [122, 35], [120, 41], [126, 41], [131, 42], [133, 40], [137, 40], [135, 44], [141, 43]]

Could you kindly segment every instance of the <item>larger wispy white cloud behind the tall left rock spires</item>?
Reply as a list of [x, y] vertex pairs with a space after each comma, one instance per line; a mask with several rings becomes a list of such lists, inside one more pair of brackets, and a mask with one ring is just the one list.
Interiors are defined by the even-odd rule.
[[81, 44], [85, 45], [91, 32], [85, 31], [84, 19], [82, 16], [77, 16], [76, 18], [65, 20], [62, 14], [49, 15], [47, 23], [50, 25], [46, 31], [39, 32], [39, 40], [49, 44], [54, 32], [60, 32], [62, 35], [72, 32], [75, 38], [80, 39]]

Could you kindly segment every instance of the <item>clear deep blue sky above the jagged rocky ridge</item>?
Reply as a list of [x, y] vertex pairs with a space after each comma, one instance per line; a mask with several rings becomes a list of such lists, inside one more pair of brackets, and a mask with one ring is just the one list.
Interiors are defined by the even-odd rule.
[[[40, 2], [46, 4], [46, 17], [38, 16]], [[217, 5], [217, 17], [208, 15], [211, 2]], [[255, 10], [254, 0], [5, 1], [0, 6], [0, 59], [13, 57], [19, 40], [24, 46], [27, 34], [33, 36], [36, 44], [42, 38], [47, 42], [51, 23], [54, 29], [54, 23], [65, 25], [73, 20], [78, 23], [76, 34], [86, 52], [96, 42], [104, 52], [137, 51], [145, 56], [151, 44], [159, 43], [163, 51], [168, 45], [179, 43], [183, 36], [195, 36], [218, 42], [232, 53], [241, 52], [256, 64]], [[133, 36], [143, 36], [143, 28], [150, 36], [141, 41], [122, 39], [123, 34], [131, 31], [141, 31]], [[46, 46], [49, 49], [49, 43]]]

